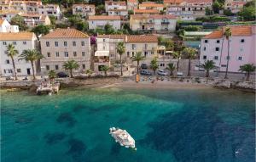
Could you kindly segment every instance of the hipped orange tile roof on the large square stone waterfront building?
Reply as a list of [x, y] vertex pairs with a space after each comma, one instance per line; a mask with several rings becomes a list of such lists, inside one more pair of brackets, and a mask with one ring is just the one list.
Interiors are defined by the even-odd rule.
[[88, 38], [89, 36], [81, 31], [67, 28], [67, 29], [57, 29], [55, 31], [49, 32], [49, 34], [43, 36], [41, 39], [55, 39], [55, 38]]

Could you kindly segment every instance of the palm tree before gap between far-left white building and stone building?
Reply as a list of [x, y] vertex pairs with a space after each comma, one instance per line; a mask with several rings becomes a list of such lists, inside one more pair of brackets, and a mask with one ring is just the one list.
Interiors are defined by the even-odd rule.
[[26, 49], [20, 54], [19, 58], [25, 59], [26, 61], [30, 61], [32, 65], [33, 79], [35, 80], [36, 75], [35, 75], [34, 62], [37, 61], [38, 59], [43, 59], [44, 58], [43, 54], [41, 54], [36, 49]]

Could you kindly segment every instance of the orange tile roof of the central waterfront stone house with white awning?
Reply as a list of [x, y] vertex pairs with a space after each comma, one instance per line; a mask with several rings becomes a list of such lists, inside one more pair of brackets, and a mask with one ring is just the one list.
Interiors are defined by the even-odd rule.
[[130, 35], [127, 42], [158, 42], [158, 39], [154, 35]]

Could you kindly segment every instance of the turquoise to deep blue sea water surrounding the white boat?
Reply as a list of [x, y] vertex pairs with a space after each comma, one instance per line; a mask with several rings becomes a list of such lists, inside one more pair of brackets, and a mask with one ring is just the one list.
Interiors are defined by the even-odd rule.
[[[162, 89], [1, 91], [2, 162], [251, 162], [254, 94]], [[119, 126], [137, 151], [108, 134]]]

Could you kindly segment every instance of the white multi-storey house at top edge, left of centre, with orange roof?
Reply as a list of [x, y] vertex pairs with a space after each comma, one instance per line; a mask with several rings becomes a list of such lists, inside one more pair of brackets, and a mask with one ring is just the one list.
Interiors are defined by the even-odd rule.
[[105, 9], [108, 15], [118, 15], [121, 19], [128, 18], [128, 10], [125, 1], [105, 1]]

